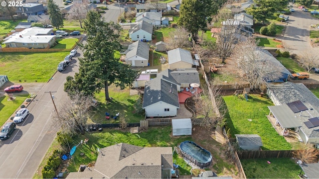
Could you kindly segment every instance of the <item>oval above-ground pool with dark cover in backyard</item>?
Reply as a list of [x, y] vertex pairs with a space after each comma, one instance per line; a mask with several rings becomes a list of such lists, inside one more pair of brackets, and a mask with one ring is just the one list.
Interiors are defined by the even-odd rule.
[[179, 145], [183, 157], [196, 164], [198, 167], [207, 167], [211, 164], [210, 152], [192, 141], [184, 141]]

